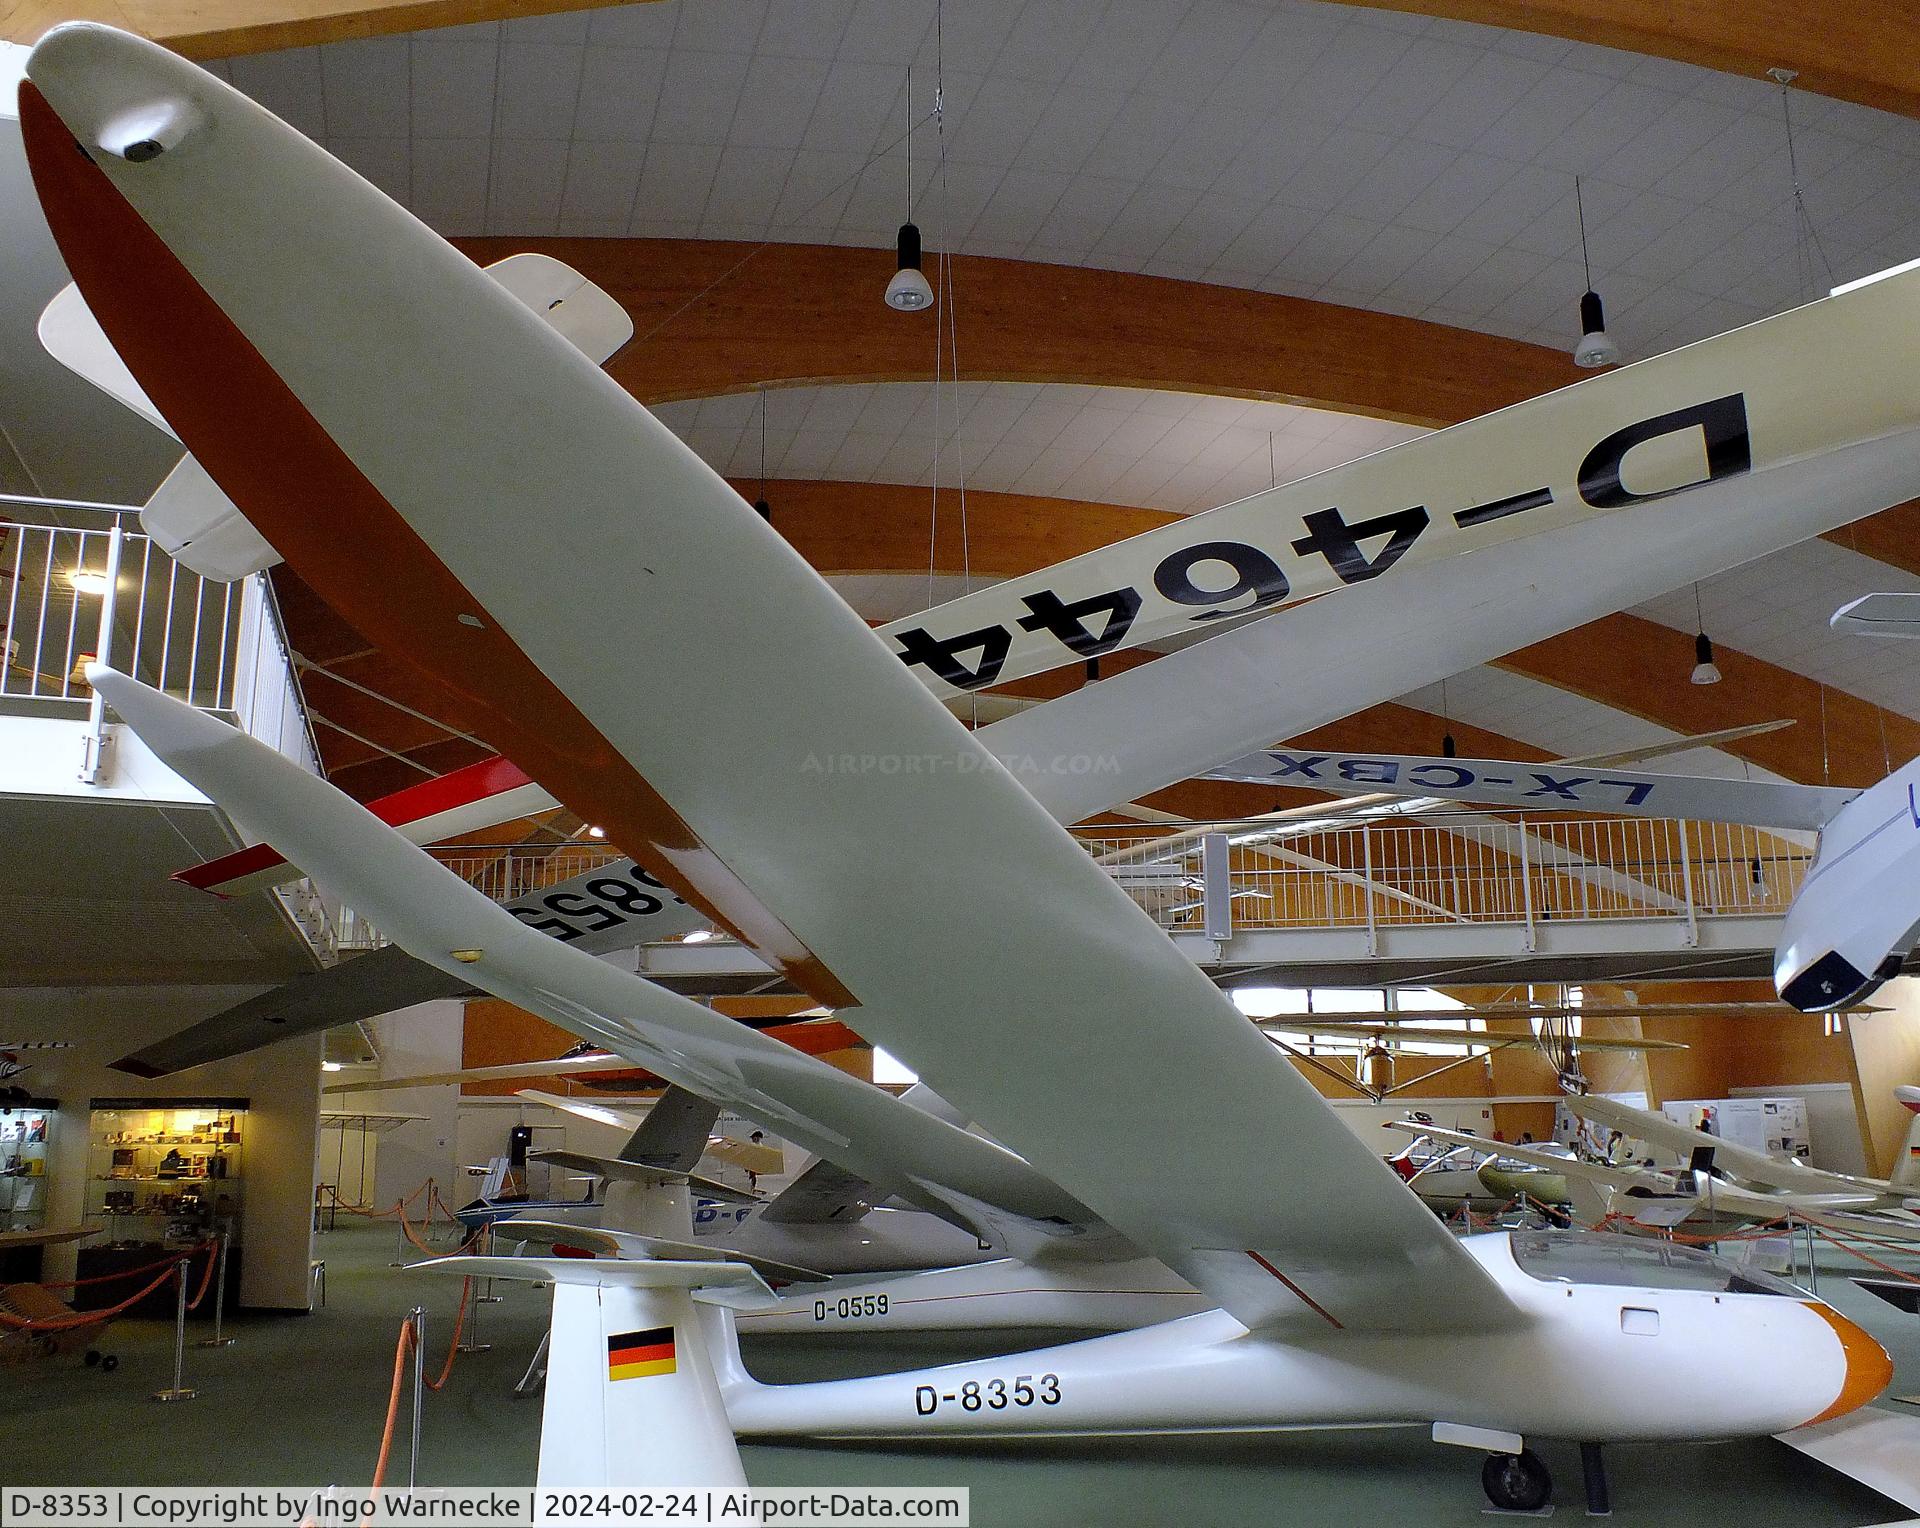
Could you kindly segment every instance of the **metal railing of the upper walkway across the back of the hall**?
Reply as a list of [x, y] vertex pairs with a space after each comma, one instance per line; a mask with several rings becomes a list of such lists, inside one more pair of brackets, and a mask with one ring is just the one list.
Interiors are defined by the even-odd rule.
[[[1651, 818], [1500, 818], [1480, 812], [1286, 827], [1271, 822], [1100, 825], [1075, 837], [1169, 933], [1509, 925], [1578, 919], [1780, 918], [1812, 864], [1811, 835]], [[495, 900], [582, 875], [605, 843], [442, 845], [444, 866]], [[1225, 873], [1221, 873], [1225, 871]], [[351, 912], [342, 948], [384, 943]]]

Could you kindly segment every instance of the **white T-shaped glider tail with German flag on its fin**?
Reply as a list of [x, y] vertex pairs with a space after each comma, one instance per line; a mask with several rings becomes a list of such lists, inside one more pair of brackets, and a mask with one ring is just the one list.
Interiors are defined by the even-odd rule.
[[490, 1278], [551, 1280], [553, 1332], [540, 1419], [540, 1486], [745, 1486], [718, 1367], [745, 1376], [733, 1313], [708, 1296], [770, 1300], [739, 1263], [591, 1257], [438, 1257]]

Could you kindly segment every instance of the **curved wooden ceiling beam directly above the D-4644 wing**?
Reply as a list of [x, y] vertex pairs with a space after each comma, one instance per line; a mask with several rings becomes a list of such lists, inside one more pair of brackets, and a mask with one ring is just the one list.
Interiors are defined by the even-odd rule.
[[[879, 294], [891, 250], [651, 238], [459, 238], [599, 282], [636, 338], [607, 370], [643, 403], [760, 384], [933, 376], [933, 317]], [[1559, 349], [1359, 307], [1016, 259], [954, 259], [968, 380], [1169, 388], [1457, 424], [1576, 382]]]

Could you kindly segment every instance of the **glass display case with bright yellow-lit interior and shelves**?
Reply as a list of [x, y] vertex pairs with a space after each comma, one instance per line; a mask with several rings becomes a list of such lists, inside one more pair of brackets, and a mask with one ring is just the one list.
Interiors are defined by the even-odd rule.
[[[86, 1140], [86, 1219], [106, 1227], [104, 1246], [79, 1253], [83, 1277], [144, 1267], [167, 1252], [211, 1242], [227, 1232], [228, 1280], [240, 1257], [240, 1207], [246, 1192], [244, 1098], [96, 1098]], [[200, 1277], [200, 1261], [188, 1269]], [[92, 1286], [100, 1303], [123, 1298], [113, 1284]], [[92, 1303], [88, 1286], [79, 1303]], [[171, 1288], [136, 1309], [165, 1303]], [[157, 1311], [156, 1311], [157, 1313]]]

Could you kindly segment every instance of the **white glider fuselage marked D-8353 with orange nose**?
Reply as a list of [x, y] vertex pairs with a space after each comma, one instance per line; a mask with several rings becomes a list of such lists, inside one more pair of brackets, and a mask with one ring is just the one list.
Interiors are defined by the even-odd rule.
[[[1546, 1232], [1553, 1236], [1553, 1232]], [[1620, 1238], [1597, 1238], [1619, 1242]], [[1496, 1330], [1250, 1332], [1208, 1311], [1056, 1348], [820, 1384], [758, 1384], [708, 1311], [739, 1436], [1020, 1436], [1455, 1422], [1571, 1440], [1770, 1434], [1851, 1409], [1885, 1353], [1811, 1298], [1726, 1288], [1559, 1282], [1509, 1236], [1465, 1242], [1521, 1311]], [[1661, 1253], [1647, 1244], [1647, 1255]], [[1690, 1267], [1715, 1259], [1688, 1255]], [[1436, 1290], [1436, 1300], [1444, 1292]], [[756, 1330], [755, 1323], [745, 1323]]]

